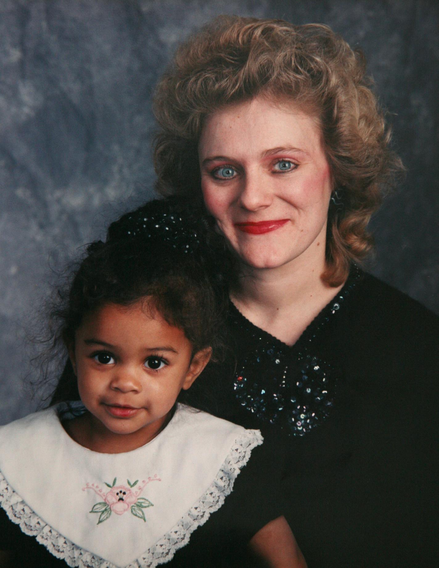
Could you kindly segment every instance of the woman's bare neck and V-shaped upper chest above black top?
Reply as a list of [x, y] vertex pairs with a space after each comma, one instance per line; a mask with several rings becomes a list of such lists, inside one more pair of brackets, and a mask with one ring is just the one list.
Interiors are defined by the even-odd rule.
[[342, 287], [323, 282], [324, 268], [324, 258], [311, 262], [297, 258], [270, 269], [245, 266], [231, 300], [254, 325], [294, 345]]

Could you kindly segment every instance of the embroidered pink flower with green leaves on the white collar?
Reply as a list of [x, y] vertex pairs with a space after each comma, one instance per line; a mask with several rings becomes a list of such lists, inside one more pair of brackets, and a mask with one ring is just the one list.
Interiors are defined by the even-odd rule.
[[[134, 483], [131, 483], [131, 481], [127, 479], [129, 485], [129, 487], [127, 487], [126, 485], [116, 485], [116, 478], [114, 478], [112, 485], [105, 482], [105, 485], [110, 487], [110, 491], [106, 493], [95, 483], [91, 483], [91, 485], [90, 483], [86, 483], [86, 486], [82, 487], [82, 491], [91, 489], [103, 499], [103, 501], [95, 503], [90, 511], [90, 513], [99, 513], [98, 524], [109, 519], [111, 513], [123, 515], [128, 509], [131, 511], [132, 515], [146, 523], [147, 519], [145, 518], [143, 509], [153, 507], [153, 503], [151, 503], [149, 499], [141, 497], [140, 494], [144, 490], [145, 485], [148, 485], [151, 481], [161, 481], [161, 479], [157, 477], [157, 474], [154, 475], [154, 477], [148, 477], [148, 481], [144, 479], [140, 483], [139, 479], [136, 479]], [[137, 485], [137, 483], [139, 483], [139, 485]]]

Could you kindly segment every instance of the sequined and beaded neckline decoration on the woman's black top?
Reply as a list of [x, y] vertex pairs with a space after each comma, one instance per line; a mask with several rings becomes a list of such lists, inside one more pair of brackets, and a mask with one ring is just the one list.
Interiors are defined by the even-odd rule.
[[319, 336], [340, 314], [361, 275], [353, 266], [344, 287], [292, 347], [253, 325], [231, 302], [233, 335], [248, 338], [252, 345], [238, 354], [233, 381], [236, 399], [245, 410], [293, 436], [306, 435], [328, 417], [340, 370], [319, 356]]

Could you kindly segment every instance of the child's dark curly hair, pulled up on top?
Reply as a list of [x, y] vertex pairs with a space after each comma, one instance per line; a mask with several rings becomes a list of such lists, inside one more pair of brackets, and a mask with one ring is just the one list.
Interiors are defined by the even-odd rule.
[[[152, 316], [157, 310], [170, 325], [182, 329], [192, 344], [193, 354], [211, 347], [212, 361], [221, 360], [227, 294], [215, 277], [216, 262], [212, 261], [211, 251], [209, 258], [204, 257], [204, 247], [198, 246], [198, 228], [193, 229], [186, 220], [179, 218], [185, 231], [181, 230], [181, 223], [166, 229], [164, 206], [152, 202], [135, 212], [139, 216], [140, 211], [142, 228], [146, 229], [143, 233], [125, 232], [124, 216], [111, 225], [105, 243], [97, 241], [87, 247], [68, 291], [58, 292], [59, 301], [51, 310], [55, 350], [60, 345], [72, 344], [86, 314], [105, 304], [129, 306], [148, 298], [145, 308], [152, 310]], [[129, 217], [128, 226], [135, 214]], [[166, 231], [166, 238], [162, 231]], [[206, 396], [199, 386], [194, 387], [195, 383], [190, 390], [182, 391], [178, 400], [203, 407], [202, 399]], [[66, 358], [51, 404], [71, 400], [79, 400], [79, 394], [73, 367]]]

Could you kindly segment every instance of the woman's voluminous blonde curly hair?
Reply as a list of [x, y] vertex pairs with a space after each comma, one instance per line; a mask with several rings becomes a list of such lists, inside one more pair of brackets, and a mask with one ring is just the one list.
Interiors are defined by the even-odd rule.
[[361, 51], [323, 24], [219, 16], [181, 44], [158, 83], [154, 113], [156, 189], [200, 199], [198, 141], [206, 116], [257, 95], [289, 100], [320, 121], [333, 190], [328, 211], [329, 286], [373, 248], [367, 223], [402, 172], [390, 129], [365, 75]]

